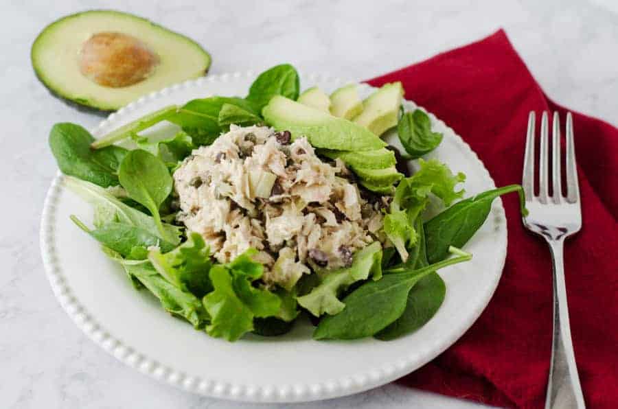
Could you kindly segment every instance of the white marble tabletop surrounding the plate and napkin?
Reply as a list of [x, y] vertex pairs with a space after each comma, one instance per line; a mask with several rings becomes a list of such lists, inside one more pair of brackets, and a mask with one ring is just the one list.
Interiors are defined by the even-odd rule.
[[[249, 2], [247, 2], [249, 3]], [[258, 2], [255, 2], [256, 4]], [[190, 395], [125, 367], [92, 344], [56, 303], [41, 266], [38, 222], [56, 172], [47, 132], [100, 117], [58, 102], [29, 51], [56, 17], [118, 8], [192, 36], [212, 73], [292, 62], [304, 71], [369, 78], [505, 27], [556, 101], [618, 124], [618, 6], [595, 1], [0, 1], [0, 407], [247, 408]], [[542, 3], [538, 4], [538, 3]], [[294, 405], [277, 406], [288, 408]], [[302, 408], [472, 408], [389, 385]]]

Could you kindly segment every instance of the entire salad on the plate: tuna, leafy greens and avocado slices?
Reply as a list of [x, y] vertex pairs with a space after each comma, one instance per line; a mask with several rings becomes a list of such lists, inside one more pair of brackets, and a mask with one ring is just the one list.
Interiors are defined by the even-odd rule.
[[245, 97], [159, 107], [99, 139], [60, 123], [49, 145], [62, 187], [93, 205], [76, 227], [198, 331], [278, 336], [310, 317], [315, 340], [390, 340], [431, 319], [446, 294], [435, 272], [469, 260], [492, 200], [522, 190], [462, 200], [464, 174], [423, 159], [443, 138], [435, 119], [403, 95], [400, 82], [301, 90], [282, 64]]

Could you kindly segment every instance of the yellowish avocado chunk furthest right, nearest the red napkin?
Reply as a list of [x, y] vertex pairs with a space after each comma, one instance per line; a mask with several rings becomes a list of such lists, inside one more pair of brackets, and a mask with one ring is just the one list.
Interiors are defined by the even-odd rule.
[[354, 122], [378, 136], [382, 135], [397, 125], [403, 94], [401, 82], [382, 85], [382, 88], [363, 101], [363, 113], [354, 118]]

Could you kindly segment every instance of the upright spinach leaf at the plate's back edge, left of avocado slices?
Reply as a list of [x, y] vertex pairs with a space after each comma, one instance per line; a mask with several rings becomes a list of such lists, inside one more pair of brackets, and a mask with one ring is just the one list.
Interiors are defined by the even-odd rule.
[[297, 100], [299, 90], [300, 79], [296, 69], [289, 64], [275, 65], [253, 81], [247, 100], [262, 110], [275, 95]]

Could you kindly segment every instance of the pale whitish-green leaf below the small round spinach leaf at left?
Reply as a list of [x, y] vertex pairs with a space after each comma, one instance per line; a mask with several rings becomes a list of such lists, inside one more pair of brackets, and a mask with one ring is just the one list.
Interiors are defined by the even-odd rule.
[[124, 204], [106, 189], [71, 176], [66, 176], [64, 180], [69, 189], [94, 206], [94, 225], [96, 227], [100, 228], [108, 222], [129, 224], [168, 241], [174, 246], [180, 244], [181, 229], [178, 226], [163, 223], [163, 230], [165, 231], [165, 237], [163, 237], [154, 218]]

